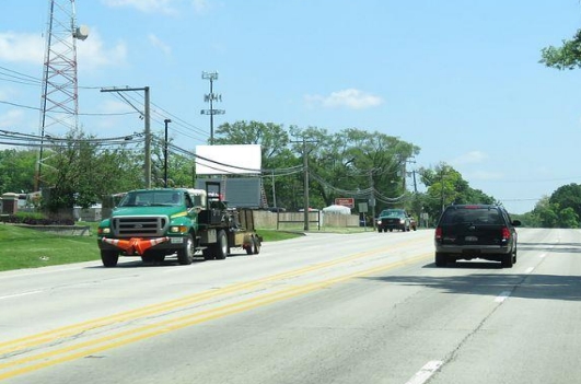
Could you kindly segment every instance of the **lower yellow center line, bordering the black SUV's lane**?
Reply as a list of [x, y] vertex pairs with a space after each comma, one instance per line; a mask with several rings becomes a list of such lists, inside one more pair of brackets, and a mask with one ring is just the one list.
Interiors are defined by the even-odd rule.
[[[315, 290], [319, 290], [339, 282], [344, 282], [353, 278], [374, 275], [381, 271], [394, 269], [404, 265], [414, 264], [421, 259], [432, 256], [432, 253], [421, 254], [419, 256], [391, 263], [387, 265], [376, 266], [363, 271], [357, 271], [336, 278], [307, 283], [304, 286], [291, 287], [281, 291], [263, 294], [256, 298], [247, 299], [237, 303], [226, 304], [217, 309], [206, 310], [199, 313], [182, 316], [178, 318], [165, 319], [155, 324], [150, 324], [135, 329], [124, 330], [120, 333], [112, 334], [109, 336], [96, 338], [75, 345], [71, 345], [65, 348], [56, 349], [31, 356], [27, 358], [14, 360], [11, 362], [0, 364], [0, 369], [10, 369], [21, 366], [19, 369], [0, 374], [0, 380], [14, 377], [20, 374], [36, 371], [46, 366], [55, 365], [58, 363], [71, 361], [74, 359], [83, 358], [96, 352], [102, 352], [112, 348], [126, 346], [131, 342], [140, 341], [147, 338], [166, 334], [173, 330], [186, 328], [196, 324], [205, 323], [208, 321], [225, 317], [236, 313], [249, 311], [259, 306], [268, 305], [275, 302], [280, 302], [287, 299], [291, 299], [301, 294], [306, 294]], [[93, 347], [93, 348], [91, 348]], [[25, 365], [38, 360], [43, 360], [36, 364]]]

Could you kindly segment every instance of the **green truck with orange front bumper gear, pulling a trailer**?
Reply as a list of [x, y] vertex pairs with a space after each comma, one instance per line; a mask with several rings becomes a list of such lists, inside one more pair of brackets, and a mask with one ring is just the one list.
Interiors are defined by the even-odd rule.
[[115, 267], [119, 256], [161, 263], [176, 254], [179, 264], [189, 265], [197, 252], [207, 260], [225, 259], [234, 247], [256, 255], [262, 241], [253, 211], [228, 208], [220, 183], [207, 183], [206, 189], [131, 190], [97, 230], [105, 267]]

